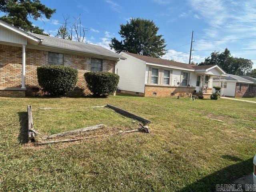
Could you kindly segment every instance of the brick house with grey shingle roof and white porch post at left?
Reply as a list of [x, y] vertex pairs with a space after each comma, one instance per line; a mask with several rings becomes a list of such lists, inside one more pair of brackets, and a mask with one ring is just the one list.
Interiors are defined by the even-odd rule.
[[69, 95], [88, 94], [84, 73], [114, 73], [120, 59], [125, 58], [101, 46], [24, 32], [0, 20], [0, 96], [42, 94], [36, 68], [48, 64], [78, 69]]

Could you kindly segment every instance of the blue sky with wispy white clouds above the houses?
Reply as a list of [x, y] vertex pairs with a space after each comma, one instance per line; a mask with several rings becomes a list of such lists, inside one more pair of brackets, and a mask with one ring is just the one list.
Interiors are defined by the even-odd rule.
[[[168, 52], [163, 58], [188, 63], [191, 33], [194, 30], [195, 62], [201, 62], [212, 50], [229, 48], [233, 56], [256, 63], [256, 3], [254, 0], [41, 0], [56, 8], [56, 14], [34, 24], [55, 35], [62, 15], [77, 17], [90, 30], [86, 42], [109, 48], [111, 37], [120, 39], [119, 25], [129, 18], [147, 18], [159, 26]], [[72, 19], [70, 19], [70, 22]], [[206, 41], [255, 38], [247, 40]], [[201, 42], [199, 42], [201, 41]], [[188, 44], [186, 46], [182, 46]], [[255, 50], [237, 50], [255, 49]], [[199, 51], [201, 50], [201, 51]], [[256, 68], [254, 64], [253, 68]]]

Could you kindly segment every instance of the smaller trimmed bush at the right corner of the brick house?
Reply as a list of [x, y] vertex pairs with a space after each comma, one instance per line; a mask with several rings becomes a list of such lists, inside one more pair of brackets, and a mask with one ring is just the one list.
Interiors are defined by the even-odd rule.
[[110, 72], [86, 72], [84, 78], [95, 97], [114, 94], [119, 82], [119, 76]]

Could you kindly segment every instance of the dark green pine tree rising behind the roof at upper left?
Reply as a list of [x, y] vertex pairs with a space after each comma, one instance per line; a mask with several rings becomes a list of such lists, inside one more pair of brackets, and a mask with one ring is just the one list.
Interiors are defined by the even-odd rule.
[[46, 7], [40, 0], [0, 0], [0, 12], [6, 14], [0, 19], [8, 24], [25, 31], [44, 34], [44, 30], [33, 26], [29, 18], [38, 20], [38, 18], [43, 19], [43, 16], [45, 16], [46, 19], [50, 19], [56, 9]]

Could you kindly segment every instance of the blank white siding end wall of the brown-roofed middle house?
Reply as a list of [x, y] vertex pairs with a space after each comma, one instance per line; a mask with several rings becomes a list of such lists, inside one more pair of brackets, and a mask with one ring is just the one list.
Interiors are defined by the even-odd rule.
[[119, 89], [144, 93], [146, 62], [123, 52], [120, 55], [127, 59], [117, 63], [117, 74], [120, 76]]

